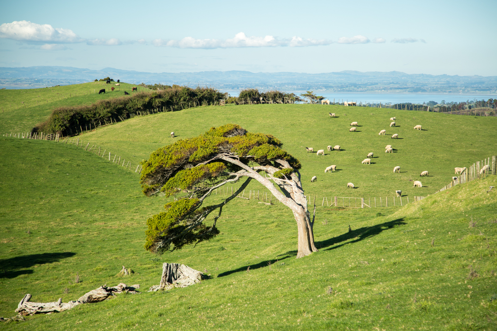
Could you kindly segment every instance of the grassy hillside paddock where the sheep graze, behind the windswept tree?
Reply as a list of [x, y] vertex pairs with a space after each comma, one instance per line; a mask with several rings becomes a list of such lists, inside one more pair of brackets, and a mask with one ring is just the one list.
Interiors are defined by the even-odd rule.
[[[337, 117], [330, 118], [329, 112]], [[389, 127], [391, 117], [397, 119], [395, 128]], [[357, 132], [349, 132], [351, 122], [358, 122]], [[136, 169], [164, 144], [226, 123], [280, 139], [283, 148], [301, 161], [304, 189], [320, 204], [323, 197], [333, 196], [391, 199], [396, 190], [402, 190], [403, 200], [410, 197], [412, 201], [414, 196], [426, 196], [447, 185], [455, 176], [455, 167], [469, 167], [497, 153], [495, 117], [307, 104], [211, 106], [159, 113], [83, 133], [81, 139], [84, 144], [90, 142], [90, 146], [97, 144], [102, 150], [123, 155]], [[418, 124], [422, 131], [414, 130]], [[387, 134], [378, 135], [383, 129]], [[170, 132], [176, 137], [171, 138]], [[391, 138], [394, 133], [399, 134], [398, 139]], [[393, 153], [385, 153], [387, 144], [393, 146]], [[340, 145], [342, 150], [328, 152], [328, 145]], [[308, 153], [305, 147], [313, 147], [315, 152]], [[325, 156], [316, 155], [319, 149], [325, 150]], [[361, 164], [369, 152], [374, 153], [371, 164]], [[325, 174], [332, 164], [338, 171]], [[395, 166], [401, 167], [400, 173], [393, 173]], [[425, 170], [429, 176], [420, 178]], [[311, 183], [313, 176], [318, 178], [315, 183]], [[413, 187], [416, 180], [422, 188]], [[347, 189], [348, 182], [356, 189]], [[251, 183], [249, 189], [261, 190], [262, 186]]]

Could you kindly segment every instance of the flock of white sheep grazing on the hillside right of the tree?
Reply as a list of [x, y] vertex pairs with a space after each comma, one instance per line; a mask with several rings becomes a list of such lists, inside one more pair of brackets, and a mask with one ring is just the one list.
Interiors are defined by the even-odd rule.
[[[329, 113], [330, 114], [330, 117], [333, 118], [335, 117], [335, 114], [334, 113]], [[392, 117], [390, 118], [390, 121], [392, 121], [390, 123], [390, 127], [396, 127], [396, 123], [395, 123], [395, 120], [396, 118], [395, 117]], [[356, 131], [356, 127], [359, 126], [359, 124], [357, 122], [352, 122], [350, 123], [350, 126], [352, 128], [350, 128], [349, 132], [355, 132]], [[416, 125], [414, 127], [415, 130], [421, 130], [421, 126], [420, 125]], [[378, 133], [378, 135], [385, 135], [386, 134], [386, 130], [381, 130], [380, 133]], [[392, 135], [392, 138], [393, 139], [397, 139], [399, 137], [399, 134], [398, 133], [395, 133]], [[305, 147], [307, 152], [314, 152], [314, 148], [313, 147]], [[328, 151], [331, 151], [331, 150], [337, 150], [337, 151], [340, 151], [340, 145], [335, 145], [334, 147], [331, 147], [331, 146], [328, 146]], [[392, 153], [393, 152], [393, 147], [392, 145], [387, 145], [385, 147], [385, 153]], [[318, 150], [318, 152], [316, 153], [318, 156], [319, 155], [325, 155], [325, 150], [324, 149], [320, 149]], [[362, 164], [371, 164], [371, 157], [373, 157], [374, 153], [373, 152], [370, 152], [368, 155], [367, 155], [367, 158], [362, 160]], [[335, 171], [336, 169], [336, 165], [331, 165], [329, 167], [327, 167], [325, 169], [325, 173], [327, 172], [333, 172]], [[458, 172], [458, 170], [460, 170], [460, 172], [464, 171], [466, 168], [455, 168], [456, 169], [456, 173]], [[396, 166], [394, 167], [394, 173], [396, 172], [399, 172], [400, 173], [401, 171], [401, 167], [400, 166]], [[421, 172], [421, 174], [419, 175], [420, 177], [423, 177], [423, 176], [428, 176], [428, 171], [423, 171]], [[317, 176], [313, 176], [313, 178], [311, 179], [311, 182], [315, 182], [317, 181]], [[420, 181], [414, 181], [414, 186], [413, 187], [422, 187], [423, 185], [421, 184]], [[351, 188], [353, 189], [354, 188], [354, 184], [353, 183], [347, 183], [347, 188]], [[401, 190], [397, 190], [395, 191], [395, 193], [397, 194], [397, 197], [400, 197], [401, 194], [402, 194], [402, 191]]]

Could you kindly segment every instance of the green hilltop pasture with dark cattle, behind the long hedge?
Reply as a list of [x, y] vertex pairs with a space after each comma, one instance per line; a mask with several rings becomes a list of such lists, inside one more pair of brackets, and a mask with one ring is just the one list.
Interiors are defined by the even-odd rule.
[[[33, 127], [45, 121], [52, 110], [61, 106], [88, 105], [101, 99], [124, 96], [124, 91], [131, 93], [137, 85], [116, 82], [106, 84], [104, 81], [75, 85], [0, 90], [0, 132], [30, 132]], [[116, 90], [111, 92], [110, 88]], [[98, 91], [105, 88], [105, 94]], [[139, 90], [146, 89], [138, 86]]]

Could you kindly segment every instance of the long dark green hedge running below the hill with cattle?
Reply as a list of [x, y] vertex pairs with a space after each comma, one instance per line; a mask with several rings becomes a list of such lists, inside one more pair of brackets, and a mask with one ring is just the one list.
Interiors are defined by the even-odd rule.
[[86, 126], [95, 127], [96, 124], [113, 118], [126, 119], [138, 112], [153, 110], [175, 111], [198, 105], [213, 105], [225, 94], [210, 87], [173, 85], [166, 89], [152, 92], [137, 92], [130, 96], [99, 100], [87, 106], [59, 107], [52, 111], [50, 117], [33, 128], [32, 132], [62, 133], [72, 135], [74, 131], [81, 131]]

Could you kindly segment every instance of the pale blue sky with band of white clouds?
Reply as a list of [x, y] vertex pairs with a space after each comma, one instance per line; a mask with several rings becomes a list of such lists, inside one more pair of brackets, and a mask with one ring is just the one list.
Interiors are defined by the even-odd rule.
[[497, 1], [3, 1], [0, 66], [497, 75]]

